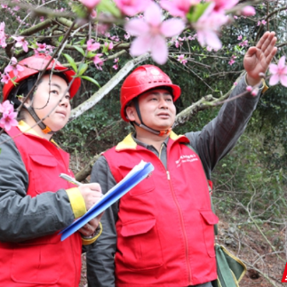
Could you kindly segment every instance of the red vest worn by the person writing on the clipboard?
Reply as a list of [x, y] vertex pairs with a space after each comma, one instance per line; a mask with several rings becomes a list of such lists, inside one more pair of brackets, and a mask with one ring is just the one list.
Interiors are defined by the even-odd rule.
[[[20, 130], [15, 127], [7, 133], [18, 147], [28, 171], [27, 195], [34, 197], [74, 187], [59, 177], [61, 172], [73, 176], [68, 169], [66, 152], [32, 134], [18, 136]], [[57, 233], [21, 243], [0, 243], [0, 286], [78, 287], [81, 252], [82, 240], [78, 233], [63, 242]]]

